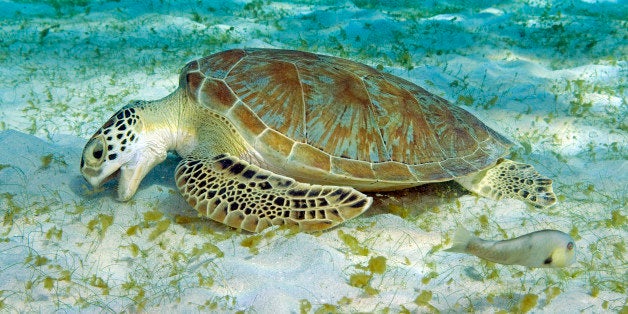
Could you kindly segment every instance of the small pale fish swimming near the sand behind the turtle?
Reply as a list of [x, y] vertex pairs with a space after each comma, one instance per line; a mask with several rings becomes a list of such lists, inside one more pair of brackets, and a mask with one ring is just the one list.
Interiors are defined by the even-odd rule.
[[503, 241], [480, 239], [458, 228], [445, 251], [472, 254], [491, 262], [527, 267], [565, 267], [574, 261], [575, 241], [558, 230], [541, 230]]

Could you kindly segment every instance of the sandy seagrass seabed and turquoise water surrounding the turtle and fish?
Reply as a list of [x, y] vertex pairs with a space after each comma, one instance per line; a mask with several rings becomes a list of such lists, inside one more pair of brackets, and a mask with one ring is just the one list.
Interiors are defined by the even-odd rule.
[[[454, 183], [376, 195], [315, 234], [199, 219], [171, 156], [135, 197], [87, 186], [83, 145], [195, 58], [298, 49], [408, 79], [515, 143], [554, 180], [536, 209]], [[626, 1], [0, 0], [1, 312], [628, 312]], [[561, 269], [443, 252], [463, 226], [558, 229]]]

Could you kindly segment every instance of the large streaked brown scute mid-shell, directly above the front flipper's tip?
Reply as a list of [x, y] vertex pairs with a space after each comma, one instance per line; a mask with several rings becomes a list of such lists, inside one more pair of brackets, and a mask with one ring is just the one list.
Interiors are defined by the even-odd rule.
[[300, 72], [308, 143], [334, 156], [390, 160], [362, 80], [346, 71], [308, 66]]

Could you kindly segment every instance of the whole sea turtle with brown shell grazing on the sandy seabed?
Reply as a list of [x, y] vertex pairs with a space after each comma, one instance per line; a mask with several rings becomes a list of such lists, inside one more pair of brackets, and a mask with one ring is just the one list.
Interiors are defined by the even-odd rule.
[[368, 209], [362, 192], [447, 180], [552, 205], [552, 181], [503, 159], [510, 146], [467, 111], [369, 66], [238, 49], [188, 63], [169, 96], [120, 109], [85, 145], [81, 172], [93, 186], [119, 174], [126, 201], [176, 151], [176, 185], [200, 215], [311, 231]]

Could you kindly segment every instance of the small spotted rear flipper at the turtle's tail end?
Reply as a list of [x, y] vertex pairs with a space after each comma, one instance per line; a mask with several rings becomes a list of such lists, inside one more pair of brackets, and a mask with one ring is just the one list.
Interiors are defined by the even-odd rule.
[[466, 189], [494, 200], [514, 198], [535, 207], [556, 203], [551, 179], [536, 172], [531, 165], [508, 159], [456, 181]]

